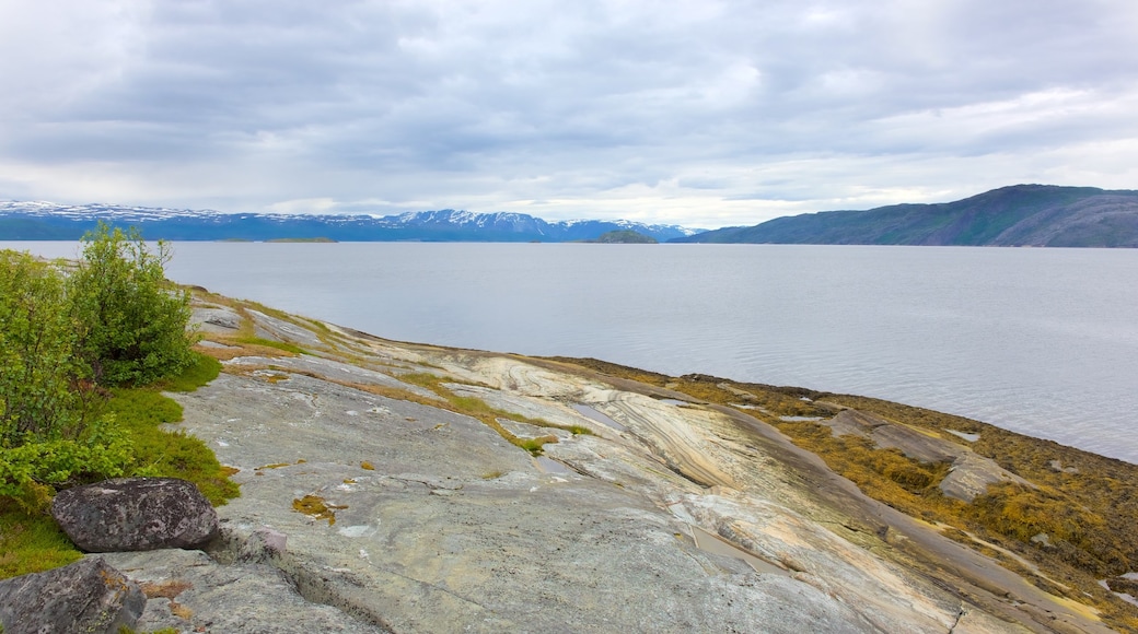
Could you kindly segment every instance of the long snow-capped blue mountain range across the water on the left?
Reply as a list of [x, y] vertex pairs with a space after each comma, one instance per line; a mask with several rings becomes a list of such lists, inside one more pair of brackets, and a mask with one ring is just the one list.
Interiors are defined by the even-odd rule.
[[310, 216], [7, 201], [0, 202], [0, 240], [77, 240], [99, 220], [115, 226], [137, 226], [152, 240], [322, 237], [344, 242], [570, 242], [593, 240], [613, 231], [635, 231], [665, 242], [698, 232], [677, 225], [645, 225], [630, 220], [550, 223], [526, 214], [475, 214], [454, 209], [395, 216]]

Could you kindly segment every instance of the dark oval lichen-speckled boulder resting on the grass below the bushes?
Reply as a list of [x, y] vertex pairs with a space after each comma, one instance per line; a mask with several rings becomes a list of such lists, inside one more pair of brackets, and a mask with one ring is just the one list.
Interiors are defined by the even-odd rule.
[[193, 548], [217, 532], [209, 501], [176, 478], [115, 478], [60, 491], [51, 515], [86, 552]]

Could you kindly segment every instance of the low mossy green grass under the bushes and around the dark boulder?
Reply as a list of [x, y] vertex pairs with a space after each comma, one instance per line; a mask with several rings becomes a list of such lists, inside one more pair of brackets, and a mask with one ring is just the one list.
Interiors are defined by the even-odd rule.
[[[137, 472], [193, 482], [215, 506], [239, 494], [228, 472], [198, 439], [158, 426], [182, 418], [181, 406], [162, 390], [192, 391], [215, 378], [218, 369], [216, 360], [199, 354], [182, 374], [145, 387], [112, 390], [102, 403], [102, 411], [114, 414], [131, 439]], [[66, 566], [82, 556], [49, 515], [30, 515], [13, 500], [0, 498], [0, 578]]]

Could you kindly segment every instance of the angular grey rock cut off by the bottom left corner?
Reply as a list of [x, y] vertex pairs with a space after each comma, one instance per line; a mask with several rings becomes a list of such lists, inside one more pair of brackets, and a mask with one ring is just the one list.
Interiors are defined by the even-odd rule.
[[101, 558], [0, 582], [5, 634], [115, 633], [133, 628], [146, 595]]

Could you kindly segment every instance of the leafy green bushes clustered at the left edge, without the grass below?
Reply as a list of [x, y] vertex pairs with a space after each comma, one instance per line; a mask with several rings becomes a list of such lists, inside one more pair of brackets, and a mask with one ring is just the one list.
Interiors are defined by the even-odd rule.
[[166, 244], [152, 252], [137, 230], [101, 224], [84, 242], [69, 272], [0, 251], [0, 498], [28, 510], [53, 489], [140, 472], [97, 384], [149, 383], [198, 359]]

